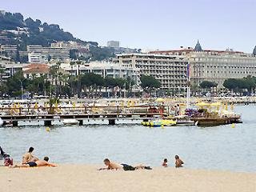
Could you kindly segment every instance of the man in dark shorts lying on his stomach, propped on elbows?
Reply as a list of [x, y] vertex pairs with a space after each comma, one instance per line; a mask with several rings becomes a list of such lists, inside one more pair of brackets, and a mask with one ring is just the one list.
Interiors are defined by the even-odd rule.
[[115, 162], [110, 162], [110, 159], [105, 158], [104, 159], [104, 164], [107, 166], [106, 168], [101, 168], [99, 170], [152, 170], [150, 166], [143, 166], [143, 165], [138, 165], [138, 166], [130, 166], [127, 164], [118, 164]]

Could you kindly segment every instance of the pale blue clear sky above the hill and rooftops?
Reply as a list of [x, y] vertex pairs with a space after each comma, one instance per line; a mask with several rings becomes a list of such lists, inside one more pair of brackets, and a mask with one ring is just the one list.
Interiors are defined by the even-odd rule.
[[84, 41], [143, 50], [194, 47], [251, 53], [256, 0], [0, 0], [0, 10], [58, 24]]

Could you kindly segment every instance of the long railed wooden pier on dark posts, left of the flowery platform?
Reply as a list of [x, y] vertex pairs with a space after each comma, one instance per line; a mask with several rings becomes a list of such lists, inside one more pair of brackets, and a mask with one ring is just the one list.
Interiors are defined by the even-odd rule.
[[75, 119], [82, 126], [85, 122], [94, 123], [95, 120], [108, 121], [115, 125], [122, 121], [148, 121], [151, 118], [169, 115], [169, 106], [74, 106], [74, 107], [9, 107], [0, 108], [3, 126], [11, 124], [20, 126], [20, 122], [44, 126], [51, 126], [52, 122], [62, 122], [64, 119]]

